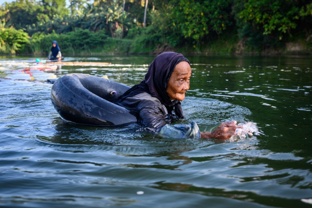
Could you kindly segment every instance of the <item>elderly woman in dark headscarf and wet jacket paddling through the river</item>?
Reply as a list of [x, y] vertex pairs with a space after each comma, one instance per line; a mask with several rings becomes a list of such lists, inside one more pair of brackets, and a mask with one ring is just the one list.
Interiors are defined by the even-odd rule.
[[[183, 119], [181, 102], [190, 87], [190, 62], [180, 53], [164, 52], [150, 64], [145, 79], [133, 86], [115, 103], [139, 114], [139, 123], [170, 137], [229, 139], [240, 126], [236, 121], [222, 123], [212, 132], [201, 132], [195, 122], [169, 125]], [[174, 108], [174, 113], [172, 112]]]

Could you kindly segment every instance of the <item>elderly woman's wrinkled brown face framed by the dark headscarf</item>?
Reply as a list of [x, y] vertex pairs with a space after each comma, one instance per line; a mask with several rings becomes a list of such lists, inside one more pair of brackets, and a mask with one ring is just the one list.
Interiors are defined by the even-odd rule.
[[192, 70], [188, 62], [182, 61], [176, 65], [166, 90], [170, 100], [184, 100], [185, 92], [190, 88], [191, 74]]

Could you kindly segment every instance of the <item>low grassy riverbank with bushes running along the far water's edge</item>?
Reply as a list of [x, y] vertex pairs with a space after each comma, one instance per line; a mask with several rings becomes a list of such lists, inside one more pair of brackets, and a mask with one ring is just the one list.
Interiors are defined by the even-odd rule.
[[[77, 29], [65, 34], [36, 33], [27, 38], [22, 31], [3, 31], [0, 42], [0, 54], [41, 55], [50, 52], [51, 42], [56, 40], [64, 56], [69, 55], [107, 55], [107, 54], [159, 54], [164, 51], [176, 51], [183, 54], [312, 54], [312, 38], [293, 37], [280, 47], [257, 48], [248, 45], [246, 39], [239, 39], [235, 32], [226, 32], [212, 40], [171, 47], [166, 39], [144, 29], [127, 38], [108, 37], [104, 31], [91, 32]], [[9, 34], [14, 34], [10, 36]], [[14, 50], [12, 50], [14, 49]]]

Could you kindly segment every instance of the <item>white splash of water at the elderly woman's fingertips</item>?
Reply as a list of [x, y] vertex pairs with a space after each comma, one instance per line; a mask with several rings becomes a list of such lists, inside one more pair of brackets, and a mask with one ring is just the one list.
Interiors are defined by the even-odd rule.
[[258, 126], [254, 122], [242, 122], [237, 124], [243, 128], [237, 128], [233, 136], [229, 139], [230, 142], [244, 140], [247, 136], [259, 135]]

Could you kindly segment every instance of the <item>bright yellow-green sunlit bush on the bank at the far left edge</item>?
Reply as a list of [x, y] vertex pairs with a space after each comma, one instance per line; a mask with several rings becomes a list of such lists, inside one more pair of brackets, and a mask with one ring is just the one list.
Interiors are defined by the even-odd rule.
[[29, 44], [28, 34], [14, 28], [0, 29], [0, 53], [15, 54]]

